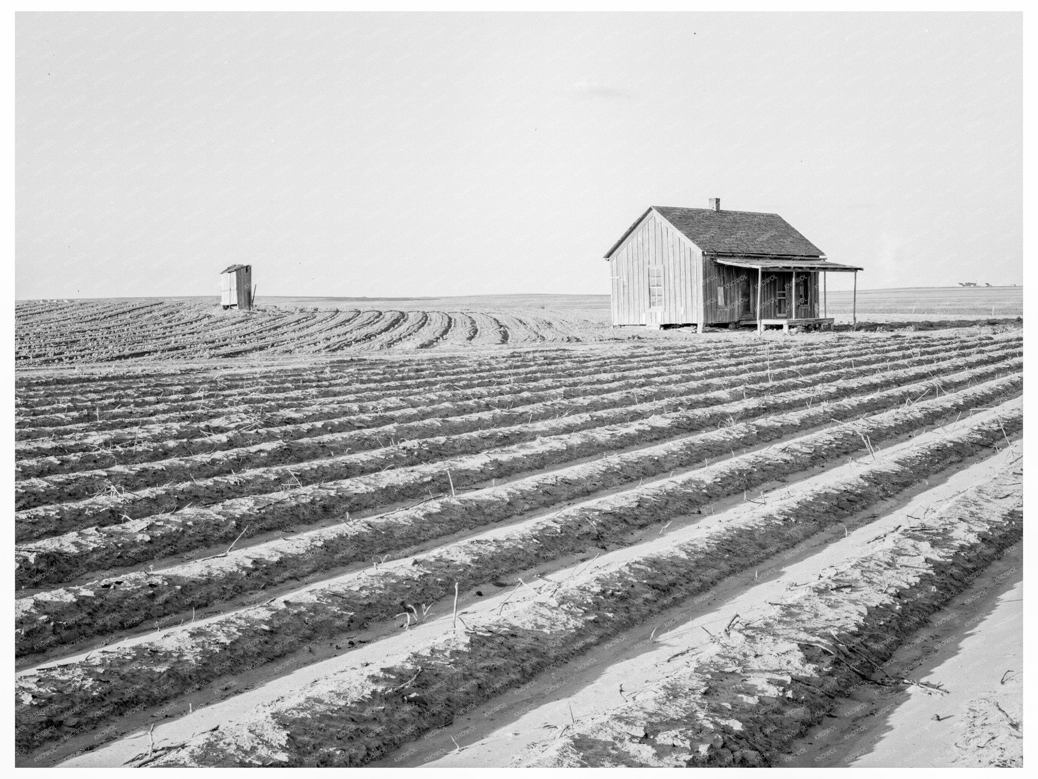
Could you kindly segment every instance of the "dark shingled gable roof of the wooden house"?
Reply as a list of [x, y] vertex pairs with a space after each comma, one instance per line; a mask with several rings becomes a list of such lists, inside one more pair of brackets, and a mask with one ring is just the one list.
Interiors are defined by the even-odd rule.
[[778, 214], [653, 206], [612, 245], [605, 254], [606, 260], [653, 211], [671, 222], [678, 232], [703, 251], [710, 253], [825, 257], [820, 248], [800, 235]]

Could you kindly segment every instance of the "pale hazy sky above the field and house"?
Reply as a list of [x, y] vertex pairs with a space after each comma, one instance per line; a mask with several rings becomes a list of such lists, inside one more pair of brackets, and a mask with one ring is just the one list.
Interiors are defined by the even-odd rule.
[[[1021, 17], [17, 17], [17, 297], [608, 293], [649, 206], [1022, 281]], [[849, 284], [834, 274], [830, 289]]]

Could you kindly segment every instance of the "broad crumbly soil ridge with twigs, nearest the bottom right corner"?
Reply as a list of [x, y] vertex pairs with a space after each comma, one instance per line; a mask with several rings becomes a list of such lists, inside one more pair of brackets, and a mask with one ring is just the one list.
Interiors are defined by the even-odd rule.
[[646, 694], [574, 723], [513, 764], [785, 764], [788, 746], [823, 721], [834, 699], [863, 682], [917, 684], [886, 673], [884, 664], [1019, 541], [1021, 500], [1020, 485], [1007, 480], [972, 486], [934, 515], [778, 598], [773, 613], [690, 645], [690, 660], [661, 664]]

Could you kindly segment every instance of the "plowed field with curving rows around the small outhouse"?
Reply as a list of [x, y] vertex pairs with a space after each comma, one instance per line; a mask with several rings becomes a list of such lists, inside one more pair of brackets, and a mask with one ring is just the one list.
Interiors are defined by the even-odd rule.
[[208, 300], [45, 300], [17, 304], [15, 357], [19, 366], [37, 366], [138, 357], [199, 359], [531, 346], [628, 337], [612, 332], [601, 312], [277, 305], [238, 312], [222, 311]]

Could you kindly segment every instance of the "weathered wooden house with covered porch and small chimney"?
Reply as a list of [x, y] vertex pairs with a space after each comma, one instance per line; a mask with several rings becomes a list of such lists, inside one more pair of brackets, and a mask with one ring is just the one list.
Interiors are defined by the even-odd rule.
[[829, 262], [778, 214], [721, 211], [717, 197], [651, 207], [605, 259], [613, 325], [831, 327], [824, 279], [838, 271], [854, 273], [856, 313], [862, 268]]

